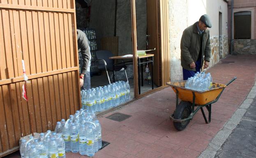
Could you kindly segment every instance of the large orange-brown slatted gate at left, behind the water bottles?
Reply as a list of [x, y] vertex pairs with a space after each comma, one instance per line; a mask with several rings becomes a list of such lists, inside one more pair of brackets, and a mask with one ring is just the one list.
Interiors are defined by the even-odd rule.
[[[74, 0], [0, 0], [0, 157], [80, 107]], [[22, 98], [23, 69], [28, 102]]]

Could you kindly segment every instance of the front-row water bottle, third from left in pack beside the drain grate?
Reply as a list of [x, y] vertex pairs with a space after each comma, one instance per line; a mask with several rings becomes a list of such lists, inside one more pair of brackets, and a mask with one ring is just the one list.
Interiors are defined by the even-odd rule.
[[79, 130], [79, 153], [81, 155], [87, 154], [87, 145], [86, 145], [86, 128], [85, 125], [81, 125]]

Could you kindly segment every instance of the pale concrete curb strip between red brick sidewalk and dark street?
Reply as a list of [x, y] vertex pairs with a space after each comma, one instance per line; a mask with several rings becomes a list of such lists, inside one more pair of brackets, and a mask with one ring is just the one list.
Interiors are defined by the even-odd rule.
[[226, 141], [228, 136], [232, 133], [233, 129], [240, 123], [247, 108], [251, 105], [256, 97], [256, 82], [251, 88], [251, 91], [247, 95], [246, 99], [235, 111], [231, 119], [224, 125], [224, 127], [214, 136], [212, 141], [208, 144], [208, 147], [197, 158], [214, 158], [217, 151], [221, 148], [222, 144]]

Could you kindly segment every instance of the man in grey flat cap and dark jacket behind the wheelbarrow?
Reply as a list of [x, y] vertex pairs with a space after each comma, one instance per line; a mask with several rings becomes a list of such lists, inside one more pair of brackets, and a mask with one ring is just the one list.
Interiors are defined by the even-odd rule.
[[209, 66], [211, 46], [207, 27], [211, 28], [212, 24], [209, 16], [204, 14], [199, 21], [183, 31], [180, 42], [183, 80], [200, 72], [202, 66], [204, 69]]

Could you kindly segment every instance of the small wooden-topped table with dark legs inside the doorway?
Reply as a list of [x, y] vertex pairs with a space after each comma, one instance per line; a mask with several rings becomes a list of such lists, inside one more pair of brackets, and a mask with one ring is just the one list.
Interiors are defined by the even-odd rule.
[[[153, 68], [154, 66], [154, 54], [146, 54], [146, 55], [138, 55], [138, 94], [141, 94], [141, 86], [143, 86], [143, 64], [147, 64], [147, 63], [151, 63], [151, 66]], [[151, 60], [149, 60], [148, 58], [151, 58]], [[133, 59], [132, 55], [123, 55], [123, 56], [115, 56], [115, 57], [109, 57], [109, 59], [113, 59], [113, 60], [117, 60], [117, 59], [121, 59], [122, 62], [121, 63], [127, 63], [127, 62], [132, 62], [131, 61], [127, 61], [124, 62], [125, 59]], [[121, 63], [115, 63], [113, 62], [113, 68], [115, 68], [115, 64], [121, 64]], [[141, 76], [140, 76], [140, 68], [141, 68]], [[140, 83], [140, 79], [141, 79], [141, 83]], [[115, 82], [115, 71], [113, 71], [113, 82]], [[152, 89], [154, 89], [154, 84], [153, 84], [153, 71], [151, 72], [151, 85], [152, 85]]]

